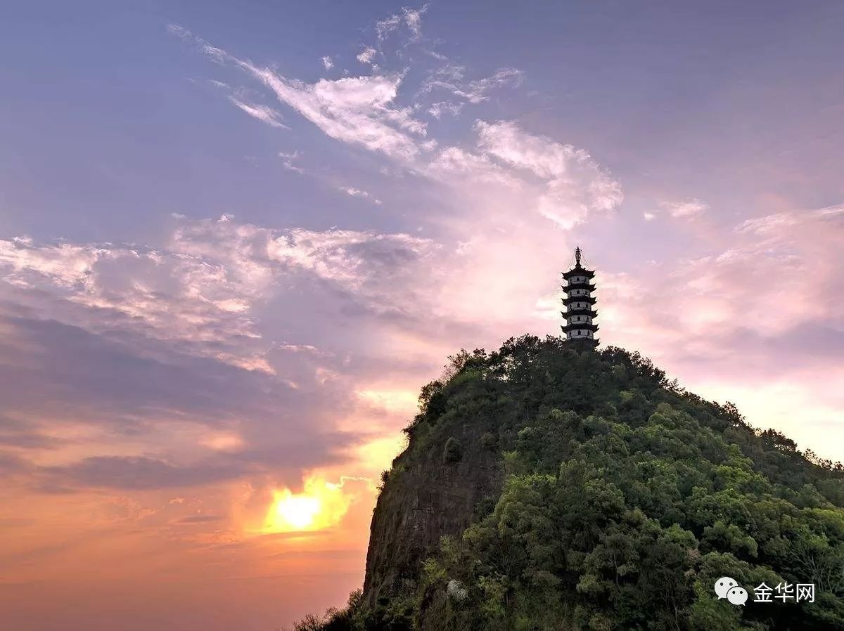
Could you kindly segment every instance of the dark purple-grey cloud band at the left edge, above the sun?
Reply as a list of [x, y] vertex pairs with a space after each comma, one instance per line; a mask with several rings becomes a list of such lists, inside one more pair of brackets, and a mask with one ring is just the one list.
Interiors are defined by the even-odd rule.
[[[78, 318], [62, 312], [68, 306], [53, 304], [38, 313], [43, 318], [52, 310], [52, 315], [68, 320]], [[181, 418], [215, 425], [234, 412], [233, 405], [241, 406], [244, 414], [257, 413], [258, 402], [268, 400], [260, 396], [260, 388], [273, 382], [267, 373], [183, 354], [191, 349], [151, 340], [139, 323], [110, 318], [107, 312], [89, 311], [88, 315], [100, 315], [92, 327], [98, 331], [35, 315], [15, 315], [8, 307], [0, 312], [0, 323], [15, 341], [14, 346], [3, 348], [0, 364], [8, 434], [20, 434], [29, 414], [46, 423], [63, 417], [69, 409], [84, 423], [108, 423], [118, 432], [131, 425], [133, 418], [174, 409], [180, 410]], [[33, 380], [40, 384], [38, 391], [26, 387]], [[214, 389], [219, 380], [228, 380], [226, 391]], [[289, 394], [288, 388], [279, 386], [279, 396]], [[252, 396], [255, 406], [235, 403], [241, 395], [246, 400]], [[46, 436], [50, 441], [46, 446], [68, 444], [67, 434], [48, 434], [55, 426], [40, 423], [29, 421], [27, 427], [30, 433]]]

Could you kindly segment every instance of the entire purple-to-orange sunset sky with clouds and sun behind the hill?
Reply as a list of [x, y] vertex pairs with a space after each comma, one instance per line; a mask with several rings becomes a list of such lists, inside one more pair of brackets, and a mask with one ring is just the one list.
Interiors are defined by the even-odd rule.
[[16, 3], [0, 627], [276, 631], [363, 581], [460, 348], [560, 332], [844, 460], [844, 5]]

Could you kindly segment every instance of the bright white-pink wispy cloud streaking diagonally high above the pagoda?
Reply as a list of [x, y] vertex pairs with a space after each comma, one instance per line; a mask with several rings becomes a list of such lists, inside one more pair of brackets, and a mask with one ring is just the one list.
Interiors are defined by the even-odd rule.
[[[423, 9], [405, 11], [411, 28], [418, 25]], [[399, 24], [389, 19], [381, 24], [387, 32]], [[203, 40], [192, 40], [206, 50]], [[214, 47], [212, 47], [214, 48]], [[371, 61], [374, 49], [366, 49], [365, 60]], [[473, 149], [451, 146], [439, 147], [434, 138], [426, 138], [425, 123], [414, 117], [416, 107], [396, 105], [398, 88], [404, 75], [346, 77], [315, 84], [284, 78], [266, 67], [236, 59], [214, 48], [213, 58], [225, 57], [236, 67], [258, 78], [272, 89], [279, 100], [290, 105], [322, 132], [344, 143], [364, 146], [376, 153], [395, 159], [408, 171], [432, 176], [456, 184], [457, 175], [466, 175], [476, 182], [496, 182], [520, 188], [533, 200], [533, 207], [545, 218], [562, 228], [581, 223], [593, 211], [608, 211], [622, 200], [619, 183], [603, 172], [582, 149], [557, 143], [550, 138], [532, 136], [511, 121], [488, 123], [478, 121], [477, 147]], [[502, 68], [488, 78], [464, 80], [463, 67], [446, 64], [439, 68], [423, 86], [421, 93], [446, 88], [472, 103], [488, 98], [490, 90], [509, 83], [517, 83], [522, 73]], [[457, 113], [461, 103], [439, 101], [429, 108], [432, 116], [443, 111]], [[432, 157], [429, 157], [432, 156]], [[292, 165], [292, 162], [290, 163]], [[533, 173], [533, 175], [530, 175]], [[541, 181], [537, 190], [536, 179]], [[346, 191], [349, 193], [349, 191]], [[353, 197], [365, 197], [362, 194]]]

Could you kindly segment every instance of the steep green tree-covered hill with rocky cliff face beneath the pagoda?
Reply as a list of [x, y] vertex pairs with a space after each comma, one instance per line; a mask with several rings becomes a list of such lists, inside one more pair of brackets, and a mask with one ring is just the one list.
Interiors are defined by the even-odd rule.
[[[297, 631], [844, 629], [839, 464], [620, 348], [450, 359], [384, 473], [364, 590]], [[488, 462], [484, 495], [459, 493]], [[814, 583], [814, 603], [755, 602], [762, 583]]]

